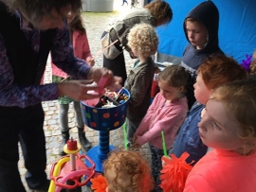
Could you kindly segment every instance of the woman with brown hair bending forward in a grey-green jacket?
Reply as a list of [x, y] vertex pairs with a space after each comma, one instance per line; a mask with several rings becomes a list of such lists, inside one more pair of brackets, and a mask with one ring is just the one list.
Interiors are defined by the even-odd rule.
[[127, 34], [130, 29], [136, 24], [145, 23], [151, 26], [162, 26], [169, 24], [173, 19], [173, 11], [170, 5], [162, 0], [155, 0], [144, 8], [132, 9], [125, 16], [120, 18], [113, 26], [108, 27], [103, 32], [101, 38], [103, 38], [107, 33], [109, 33], [110, 42], [118, 42], [115, 47], [119, 50], [120, 54], [116, 58], [109, 58], [103, 55], [103, 66], [112, 70], [115, 76], [122, 78], [122, 85], [127, 79], [125, 61], [123, 55], [123, 49], [126, 49], [131, 58], [136, 58], [131, 47], [129, 47]]

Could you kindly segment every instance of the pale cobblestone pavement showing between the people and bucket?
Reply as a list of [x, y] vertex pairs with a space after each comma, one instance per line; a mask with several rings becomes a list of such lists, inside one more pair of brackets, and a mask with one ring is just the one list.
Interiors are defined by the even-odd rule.
[[[114, 3], [115, 11], [113, 12], [105, 12], [105, 13], [104, 12], [101, 12], [101, 13], [83, 12], [82, 13], [92, 55], [96, 55], [99, 52], [99, 50], [101, 50], [101, 47], [100, 47], [101, 33], [104, 30], [104, 28], [108, 26], [108, 23], [110, 23], [111, 21], [119, 17], [120, 14], [123, 14], [130, 9], [130, 4], [129, 4], [129, 7], [126, 5], [121, 7], [120, 4], [121, 4], [121, 0], [115, 0], [115, 3]], [[127, 53], [125, 53], [125, 58], [126, 58], [127, 72], [129, 72], [131, 69], [131, 66], [133, 66], [134, 61], [130, 59]], [[97, 56], [95, 58], [95, 61], [96, 61], [96, 66], [102, 66], [101, 55]], [[49, 83], [49, 82], [51, 82], [50, 60], [47, 61], [46, 74], [45, 74], [45, 83]], [[60, 158], [60, 156], [58, 155], [58, 148], [62, 138], [61, 138], [61, 131], [59, 127], [59, 116], [58, 116], [59, 111], [58, 111], [57, 101], [54, 100], [54, 101], [43, 102], [43, 107], [46, 114], [44, 130], [46, 134], [46, 154], [47, 154], [46, 172], [48, 174], [51, 165]], [[72, 104], [70, 105], [68, 120], [69, 120], [69, 127], [72, 128], [70, 130], [71, 136], [77, 139], [78, 137], [77, 137], [77, 129], [76, 129], [76, 123], [75, 123], [75, 114], [73, 111]], [[86, 128], [86, 136], [91, 141], [93, 146], [96, 146], [99, 144], [98, 131], [94, 131], [90, 128]], [[122, 129], [110, 131], [110, 145], [113, 145], [119, 148], [124, 147]], [[149, 161], [150, 156], [149, 156], [147, 145], [145, 145], [141, 149], [141, 152], [144, 154], [145, 158]], [[20, 152], [20, 161], [18, 166], [19, 166], [20, 174], [22, 176], [22, 181], [27, 188], [27, 183], [25, 182], [25, 178], [24, 178], [24, 175], [27, 170], [24, 166], [22, 152]], [[27, 188], [27, 191], [29, 191], [28, 188]]]

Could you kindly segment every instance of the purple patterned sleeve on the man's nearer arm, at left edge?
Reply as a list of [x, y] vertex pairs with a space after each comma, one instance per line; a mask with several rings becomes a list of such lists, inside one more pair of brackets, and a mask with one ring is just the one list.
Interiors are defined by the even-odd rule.
[[25, 108], [46, 100], [57, 99], [57, 85], [21, 86], [13, 82], [12, 68], [0, 35], [0, 106]]

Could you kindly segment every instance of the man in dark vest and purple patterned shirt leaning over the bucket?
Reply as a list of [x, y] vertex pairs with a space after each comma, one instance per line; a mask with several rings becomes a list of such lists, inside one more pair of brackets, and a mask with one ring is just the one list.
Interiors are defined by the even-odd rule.
[[[42, 101], [69, 96], [85, 100], [93, 80], [113, 73], [91, 68], [73, 54], [66, 16], [82, 8], [81, 0], [0, 1], [0, 191], [26, 192], [18, 171], [19, 149], [32, 191], [48, 191], [46, 138]], [[75, 79], [40, 85], [51, 51], [52, 61]], [[91, 80], [88, 80], [91, 79]], [[119, 87], [119, 86], [118, 86]], [[120, 87], [119, 87], [120, 88]]]

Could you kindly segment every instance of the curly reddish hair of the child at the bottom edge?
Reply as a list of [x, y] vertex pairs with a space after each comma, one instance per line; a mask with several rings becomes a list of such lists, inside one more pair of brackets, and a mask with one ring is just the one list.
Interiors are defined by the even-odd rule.
[[150, 167], [137, 151], [114, 150], [103, 168], [110, 192], [145, 192], [154, 187]]

